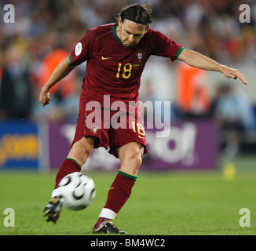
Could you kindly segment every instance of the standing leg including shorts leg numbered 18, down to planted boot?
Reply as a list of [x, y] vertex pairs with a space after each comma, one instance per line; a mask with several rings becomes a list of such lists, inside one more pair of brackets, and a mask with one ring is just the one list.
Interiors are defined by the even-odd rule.
[[[112, 122], [117, 122], [119, 128], [109, 131], [109, 152], [120, 159], [121, 167], [109, 188], [107, 202], [93, 231], [119, 233], [112, 224], [112, 220], [130, 197], [132, 187], [137, 179], [138, 169], [142, 163], [141, 156], [147, 152], [141, 110], [139, 107], [132, 107], [132, 109], [129, 108], [129, 111], [129, 114], [124, 112], [122, 115], [116, 115], [114, 112], [112, 115]], [[111, 225], [104, 224], [109, 220], [111, 220]]]

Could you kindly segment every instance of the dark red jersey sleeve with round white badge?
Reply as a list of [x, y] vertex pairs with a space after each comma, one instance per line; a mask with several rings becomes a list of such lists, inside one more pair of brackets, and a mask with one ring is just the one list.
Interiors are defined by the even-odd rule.
[[95, 35], [92, 30], [86, 32], [71, 51], [68, 65], [79, 65], [90, 59], [93, 53], [94, 38]]

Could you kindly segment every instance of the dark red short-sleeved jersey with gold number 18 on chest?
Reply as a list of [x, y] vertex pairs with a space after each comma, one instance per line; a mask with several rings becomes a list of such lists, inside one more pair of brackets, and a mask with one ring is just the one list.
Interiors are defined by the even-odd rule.
[[96, 100], [103, 106], [104, 95], [111, 103], [138, 100], [141, 74], [149, 56], [177, 59], [183, 47], [159, 31], [149, 29], [140, 42], [130, 47], [115, 33], [117, 24], [106, 24], [87, 31], [70, 54], [70, 65], [87, 60], [81, 100]]

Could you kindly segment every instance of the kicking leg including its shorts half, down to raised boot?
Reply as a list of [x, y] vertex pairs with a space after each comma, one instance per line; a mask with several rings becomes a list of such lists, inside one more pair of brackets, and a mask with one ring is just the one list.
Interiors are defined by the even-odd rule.
[[61, 205], [57, 197], [58, 193], [56, 189], [60, 180], [69, 173], [79, 172], [94, 147], [105, 147], [108, 149], [108, 129], [104, 129], [104, 120], [102, 119], [102, 124], [97, 127], [94, 126], [93, 129], [87, 126], [86, 118], [91, 112], [93, 112], [93, 115], [97, 112], [95, 116], [101, 118], [103, 111], [101, 111], [100, 108], [94, 111], [86, 111], [86, 102], [84, 102], [84, 99], [82, 99], [82, 102], [80, 100], [79, 118], [75, 130], [75, 137], [71, 145], [71, 151], [68, 154], [68, 158], [66, 158], [60, 166], [60, 170], [56, 176], [52, 199], [44, 210], [47, 221], [53, 221], [55, 223], [60, 214]]

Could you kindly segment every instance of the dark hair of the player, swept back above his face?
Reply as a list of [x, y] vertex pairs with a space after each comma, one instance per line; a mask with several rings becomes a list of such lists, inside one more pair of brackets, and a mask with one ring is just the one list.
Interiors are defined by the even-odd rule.
[[151, 3], [148, 4], [133, 4], [126, 5], [121, 12], [119, 13], [119, 17], [121, 17], [122, 23], [123, 20], [130, 20], [137, 24], [144, 24], [148, 26], [152, 23], [151, 15], [152, 9], [150, 9]]

